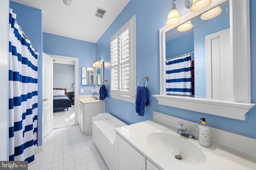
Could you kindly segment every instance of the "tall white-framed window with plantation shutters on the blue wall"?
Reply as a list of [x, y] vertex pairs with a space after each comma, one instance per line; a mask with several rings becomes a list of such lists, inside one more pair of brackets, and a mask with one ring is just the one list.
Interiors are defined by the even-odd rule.
[[110, 94], [135, 102], [135, 15], [110, 38]]

